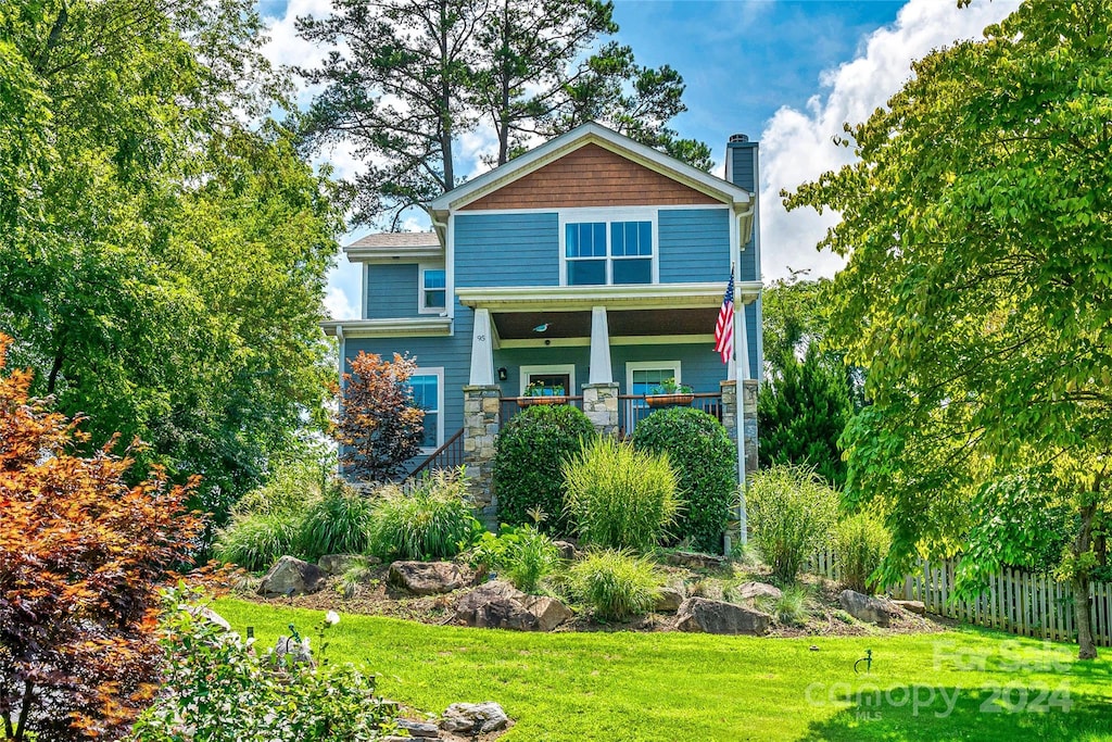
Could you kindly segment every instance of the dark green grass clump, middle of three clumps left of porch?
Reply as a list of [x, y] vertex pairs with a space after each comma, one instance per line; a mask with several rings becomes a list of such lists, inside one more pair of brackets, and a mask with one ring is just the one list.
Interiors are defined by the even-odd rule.
[[301, 518], [298, 552], [314, 562], [325, 554], [361, 554], [367, 550], [371, 507], [368, 497], [334, 482]]

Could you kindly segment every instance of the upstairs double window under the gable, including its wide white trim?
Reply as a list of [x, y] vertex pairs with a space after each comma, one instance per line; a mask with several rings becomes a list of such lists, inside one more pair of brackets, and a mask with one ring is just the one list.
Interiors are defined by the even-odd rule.
[[559, 231], [562, 286], [659, 280], [656, 209], [568, 209]]

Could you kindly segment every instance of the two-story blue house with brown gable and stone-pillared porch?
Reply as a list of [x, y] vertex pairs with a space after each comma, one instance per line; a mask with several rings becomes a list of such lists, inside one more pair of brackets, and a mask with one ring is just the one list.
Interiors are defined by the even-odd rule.
[[[751, 409], [739, 425], [734, 379], [763, 364], [756, 188], [744, 136], [722, 179], [588, 123], [434, 200], [433, 231], [345, 248], [363, 268], [363, 315], [325, 329], [345, 368], [360, 350], [416, 358], [425, 457], [455, 451], [480, 487], [523, 397], [567, 397], [629, 433], [667, 378], [751, 439], [744, 473], [756, 422]], [[739, 360], [726, 365], [714, 329], [732, 267]]]

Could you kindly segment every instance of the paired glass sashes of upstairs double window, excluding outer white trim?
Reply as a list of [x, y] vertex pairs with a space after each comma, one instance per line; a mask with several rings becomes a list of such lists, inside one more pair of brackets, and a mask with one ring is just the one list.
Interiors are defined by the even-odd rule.
[[654, 222], [651, 219], [564, 222], [564, 284], [652, 284]]

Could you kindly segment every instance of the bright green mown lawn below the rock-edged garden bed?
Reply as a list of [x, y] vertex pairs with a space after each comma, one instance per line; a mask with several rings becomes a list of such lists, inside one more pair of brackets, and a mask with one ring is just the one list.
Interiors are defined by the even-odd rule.
[[[321, 614], [225, 598], [216, 610], [264, 646]], [[1112, 740], [1112, 650], [974, 629], [853, 639], [524, 634], [345, 615], [331, 662], [379, 676], [428, 711], [497, 701], [505, 740]], [[817, 652], [810, 651], [817, 644]], [[853, 663], [873, 651], [873, 669]], [[861, 701], [858, 702], [858, 696]]]

